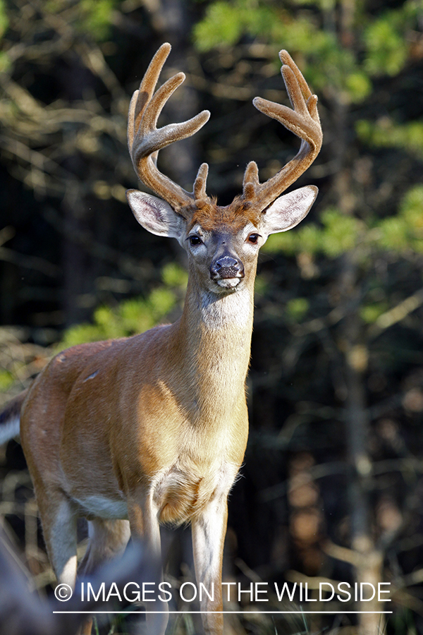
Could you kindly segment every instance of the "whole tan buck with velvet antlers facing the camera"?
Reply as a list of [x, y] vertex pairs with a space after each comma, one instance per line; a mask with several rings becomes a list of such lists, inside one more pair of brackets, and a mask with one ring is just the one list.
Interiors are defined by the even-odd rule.
[[[247, 444], [257, 258], [268, 236], [292, 229], [312, 207], [315, 186], [282, 193], [317, 157], [322, 132], [317, 96], [283, 50], [292, 107], [262, 97], [253, 104], [300, 138], [298, 153], [264, 183], [257, 164], [248, 163], [243, 193], [230, 205], [207, 195], [207, 163], [188, 193], [159, 171], [157, 155], [199, 131], [210, 113], [157, 128], [161, 110], [185, 80], [177, 73], [155, 90], [170, 51], [165, 43], [154, 55], [128, 114], [130, 157], [154, 195], [131, 189], [127, 199], [142, 227], [176, 238], [188, 254], [182, 315], [133, 337], [56, 355], [6, 407], [0, 438], [20, 425], [59, 582], [75, 586], [78, 516], [89, 522], [87, 571], [123, 552], [130, 536], [159, 557], [159, 526], [190, 524], [195, 577], [209, 590], [200, 603], [204, 632], [222, 635], [223, 541], [228, 493]], [[167, 620], [167, 603], [157, 597], [154, 613], [147, 608], [147, 631], [163, 634]]]

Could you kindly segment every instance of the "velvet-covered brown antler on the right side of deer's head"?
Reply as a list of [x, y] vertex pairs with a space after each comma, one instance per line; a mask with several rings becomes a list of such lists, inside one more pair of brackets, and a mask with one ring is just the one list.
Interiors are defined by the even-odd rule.
[[283, 66], [281, 73], [292, 109], [268, 99], [255, 97], [253, 104], [263, 114], [277, 119], [283, 126], [300, 137], [297, 155], [265, 183], [259, 183], [257, 164], [247, 165], [243, 184], [243, 198], [255, 202], [265, 210], [312, 164], [321, 148], [321, 125], [317, 112], [317, 95], [312, 95], [305, 78], [290, 54], [279, 53]]

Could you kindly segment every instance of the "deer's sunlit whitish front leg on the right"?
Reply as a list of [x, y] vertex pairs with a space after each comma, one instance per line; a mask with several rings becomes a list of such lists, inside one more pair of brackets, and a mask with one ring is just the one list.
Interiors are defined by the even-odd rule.
[[[197, 585], [204, 584], [213, 600], [202, 591], [200, 609], [206, 635], [222, 635], [222, 560], [223, 543], [228, 520], [227, 495], [210, 502], [200, 519], [192, 522], [192, 550], [194, 552]], [[214, 591], [214, 593], [212, 593]], [[207, 611], [207, 612], [206, 612]]]

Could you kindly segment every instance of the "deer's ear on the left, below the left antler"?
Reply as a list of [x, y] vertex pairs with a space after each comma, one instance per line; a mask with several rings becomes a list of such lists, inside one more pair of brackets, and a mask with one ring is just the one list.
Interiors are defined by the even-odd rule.
[[176, 214], [166, 201], [139, 190], [127, 190], [126, 198], [144, 229], [157, 236], [180, 238], [184, 229], [183, 217]]

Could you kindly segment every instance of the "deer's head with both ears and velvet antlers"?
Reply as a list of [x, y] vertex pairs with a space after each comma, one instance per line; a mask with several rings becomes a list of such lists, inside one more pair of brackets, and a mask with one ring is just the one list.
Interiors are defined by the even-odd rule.
[[185, 80], [184, 73], [178, 73], [154, 93], [170, 50], [170, 44], [163, 44], [154, 55], [140, 89], [134, 92], [128, 115], [128, 146], [133, 166], [140, 180], [160, 198], [129, 190], [128, 202], [145, 229], [179, 241], [188, 252], [190, 272], [204, 289], [227, 294], [254, 279], [258, 250], [267, 237], [291, 229], [312, 207], [317, 196], [314, 186], [283, 196], [281, 193], [319, 153], [322, 133], [317, 96], [310, 92], [290, 55], [281, 51], [281, 72], [293, 109], [261, 97], [255, 97], [253, 104], [298, 135], [300, 150], [265, 183], [259, 183], [257, 164], [250, 162], [245, 170], [242, 195], [235, 197], [231, 205], [221, 207], [206, 193], [207, 163], [200, 166], [192, 193], [173, 183], [157, 168], [157, 155], [162, 147], [193, 135], [210, 116], [209, 111], [204, 110], [189, 121], [157, 129], [161, 109]]

